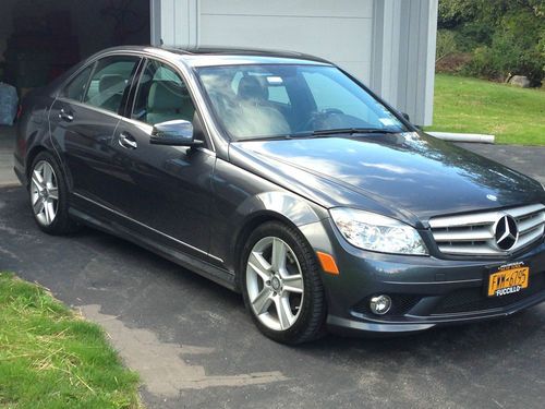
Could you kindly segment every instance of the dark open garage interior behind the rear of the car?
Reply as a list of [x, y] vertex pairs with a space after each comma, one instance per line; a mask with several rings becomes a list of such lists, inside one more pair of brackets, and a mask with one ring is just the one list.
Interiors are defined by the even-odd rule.
[[104, 48], [149, 44], [149, 0], [0, 1], [0, 82], [20, 98]]

